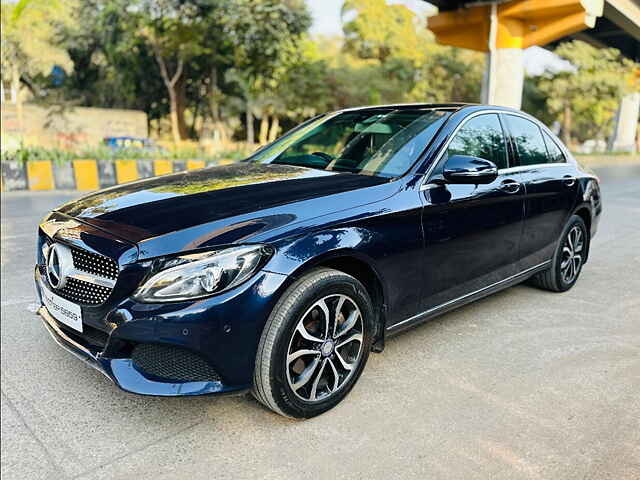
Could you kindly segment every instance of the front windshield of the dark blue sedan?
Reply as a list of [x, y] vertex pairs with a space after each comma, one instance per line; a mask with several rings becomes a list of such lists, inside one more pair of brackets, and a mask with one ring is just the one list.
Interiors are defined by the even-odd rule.
[[398, 177], [414, 164], [449, 114], [418, 108], [334, 113], [303, 124], [249, 161]]

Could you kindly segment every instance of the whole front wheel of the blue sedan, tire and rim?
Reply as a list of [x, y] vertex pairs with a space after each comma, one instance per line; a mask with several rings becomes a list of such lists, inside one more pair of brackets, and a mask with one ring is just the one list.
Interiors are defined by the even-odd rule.
[[292, 418], [333, 408], [367, 363], [373, 318], [371, 298], [358, 280], [338, 270], [311, 270], [285, 291], [267, 320], [256, 354], [254, 397]]

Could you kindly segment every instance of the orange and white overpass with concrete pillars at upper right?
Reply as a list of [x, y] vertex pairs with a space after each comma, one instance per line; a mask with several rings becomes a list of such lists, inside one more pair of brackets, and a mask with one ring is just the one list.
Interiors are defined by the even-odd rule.
[[[520, 108], [527, 47], [580, 39], [640, 61], [640, 0], [428, 0], [436, 41], [487, 53], [482, 102]], [[611, 147], [635, 150], [640, 93], [622, 99]]]

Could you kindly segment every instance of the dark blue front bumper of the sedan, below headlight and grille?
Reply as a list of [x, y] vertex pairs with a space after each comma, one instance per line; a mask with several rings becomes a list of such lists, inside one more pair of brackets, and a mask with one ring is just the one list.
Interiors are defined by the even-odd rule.
[[[36, 269], [40, 295], [38, 275]], [[262, 328], [285, 280], [283, 275], [261, 272], [234, 291], [189, 304], [140, 304], [126, 299], [105, 315], [104, 325], [113, 327], [111, 320], [115, 317], [119, 324], [100, 347], [67, 331], [44, 305], [38, 314], [58, 345], [125, 391], [158, 396], [239, 392], [251, 387]], [[207, 381], [174, 381], [149, 375], [131, 358], [131, 348], [136, 344], [195, 352], [220, 376]]]

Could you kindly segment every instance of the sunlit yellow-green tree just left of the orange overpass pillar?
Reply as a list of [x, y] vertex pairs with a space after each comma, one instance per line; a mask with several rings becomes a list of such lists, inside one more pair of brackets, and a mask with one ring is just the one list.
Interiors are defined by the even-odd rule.
[[365, 86], [345, 92], [355, 94], [348, 103], [478, 101], [482, 55], [436, 44], [406, 6], [346, 0], [342, 18], [347, 58], [338, 83], [356, 84], [345, 78], [351, 76]]

